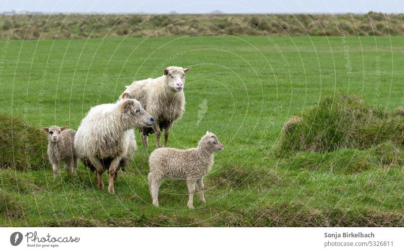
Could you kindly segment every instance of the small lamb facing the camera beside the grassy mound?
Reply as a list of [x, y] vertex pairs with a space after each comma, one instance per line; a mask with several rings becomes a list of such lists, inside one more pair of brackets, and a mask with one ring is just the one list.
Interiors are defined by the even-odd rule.
[[75, 173], [77, 156], [73, 142], [76, 131], [67, 129], [67, 126], [43, 127], [42, 130], [48, 133], [47, 156], [52, 164], [54, 180], [60, 174], [60, 162], [65, 163], [65, 168], [69, 173]]

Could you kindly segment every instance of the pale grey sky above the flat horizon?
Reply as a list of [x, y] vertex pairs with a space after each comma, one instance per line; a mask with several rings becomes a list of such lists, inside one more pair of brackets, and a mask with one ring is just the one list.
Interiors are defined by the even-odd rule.
[[404, 12], [403, 0], [0, 0], [0, 12], [45, 13], [384, 13]]

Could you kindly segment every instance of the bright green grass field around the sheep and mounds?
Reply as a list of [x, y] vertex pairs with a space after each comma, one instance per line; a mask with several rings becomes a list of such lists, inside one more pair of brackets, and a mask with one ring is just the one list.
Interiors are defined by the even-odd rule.
[[[3, 167], [0, 226], [404, 225], [402, 166], [346, 174], [274, 152], [285, 121], [326, 95], [346, 91], [368, 105], [403, 107], [403, 37], [11, 40], [0, 48], [0, 111], [34, 127], [76, 130], [92, 106], [114, 102], [133, 80], [191, 66], [186, 112], [168, 145], [193, 147], [210, 130], [225, 146], [205, 178], [207, 204], [195, 197], [194, 210], [186, 208], [183, 181], [164, 182], [160, 208], [151, 205], [147, 160], [155, 138], [144, 149], [138, 132], [115, 195], [97, 190], [81, 163], [73, 176], [62, 169], [56, 182], [49, 165]], [[38, 153], [46, 155], [46, 147]]]

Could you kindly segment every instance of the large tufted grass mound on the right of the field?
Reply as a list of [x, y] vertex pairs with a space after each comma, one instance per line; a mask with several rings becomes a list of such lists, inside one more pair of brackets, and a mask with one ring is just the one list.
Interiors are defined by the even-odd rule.
[[292, 117], [282, 131], [281, 154], [308, 150], [324, 153], [341, 148], [368, 149], [386, 141], [401, 146], [404, 120], [365, 105], [355, 94], [340, 93]]

